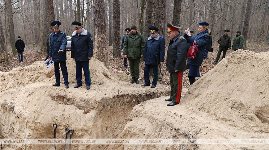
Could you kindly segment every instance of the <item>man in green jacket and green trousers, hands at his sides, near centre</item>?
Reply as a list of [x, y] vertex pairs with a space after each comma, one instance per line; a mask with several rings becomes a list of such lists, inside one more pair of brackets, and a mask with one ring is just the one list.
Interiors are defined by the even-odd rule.
[[145, 40], [141, 33], [136, 31], [136, 26], [132, 25], [131, 32], [125, 36], [123, 43], [124, 58], [128, 58], [132, 81], [130, 83], [139, 84], [139, 63], [144, 55]]

